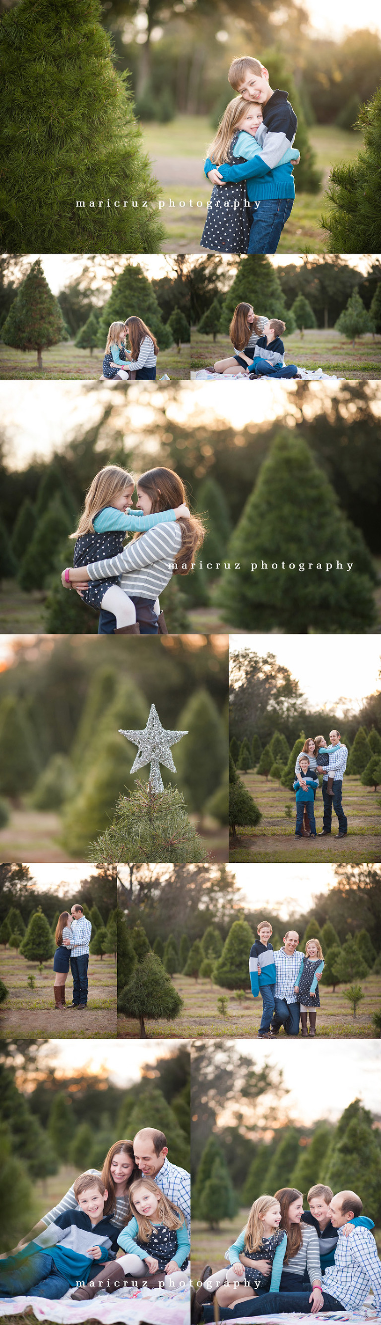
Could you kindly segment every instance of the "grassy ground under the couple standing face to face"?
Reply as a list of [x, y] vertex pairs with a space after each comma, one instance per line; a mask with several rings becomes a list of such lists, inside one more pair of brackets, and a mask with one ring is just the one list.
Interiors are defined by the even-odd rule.
[[[28, 987], [28, 975], [36, 986]], [[61, 1039], [114, 1039], [116, 1036], [116, 966], [112, 955], [91, 957], [89, 962], [89, 1004], [86, 1012], [70, 1011], [73, 977], [69, 971], [65, 996], [66, 1011], [56, 1012], [53, 994], [53, 958], [44, 962], [40, 974], [36, 962], [28, 962], [15, 947], [1, 950], [1, 979], [9, 996], [1, 1004], [0, 1028], [4, 1039], [30, 1036]]]

